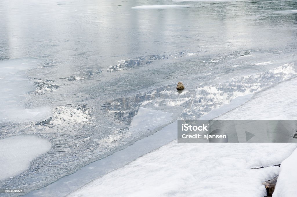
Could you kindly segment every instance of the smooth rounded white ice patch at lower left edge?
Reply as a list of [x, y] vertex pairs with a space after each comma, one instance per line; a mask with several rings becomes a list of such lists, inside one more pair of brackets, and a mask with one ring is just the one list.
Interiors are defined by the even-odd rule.
[[49, 141], [34, 135], [18, 135], [0, 139], [0, 180], [26, 170], [30, 162], [48, 152]]

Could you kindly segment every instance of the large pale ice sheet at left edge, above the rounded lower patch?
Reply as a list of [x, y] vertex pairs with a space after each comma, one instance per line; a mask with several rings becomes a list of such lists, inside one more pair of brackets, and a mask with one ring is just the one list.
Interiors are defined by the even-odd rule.
[[25, 71], [40, 63], [35, 58], [19, 58], [0, 61], [0, 122], [42, 121], [51, 116], [49, 107], [25, 108], [20, 104], [36, 89]]

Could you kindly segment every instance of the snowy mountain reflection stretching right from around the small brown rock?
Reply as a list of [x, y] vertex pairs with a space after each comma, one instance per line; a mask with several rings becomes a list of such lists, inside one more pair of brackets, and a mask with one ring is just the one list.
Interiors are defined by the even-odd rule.
[[182, 106], [182, 119], [199, 119], [214, 109], [230, 104], [234, 99], [246, 97], [296, 76], [296, 66], [289, 63], [264, 73], [235, 77], [212, 86], [188, 88], [181, 94], [176, 92], [175, 85], [165, 86], [134, 97], [107, 102], [104, 107], [112, 116], [129, 125], [143, 105], [150, 105], [156, 109]]

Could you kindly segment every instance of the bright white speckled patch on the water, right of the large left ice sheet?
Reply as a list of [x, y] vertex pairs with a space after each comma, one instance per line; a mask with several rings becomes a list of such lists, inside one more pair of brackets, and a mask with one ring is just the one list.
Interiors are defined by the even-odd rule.
[[53, 112], [51, 125], [57, 124], [69, 124], [69, 123], [80, 123], [83, 121], [89, 121], [91, 119], [88, 110], [81, 110], [77, 108], [67, 108], [64, 106], [56, 107]]

